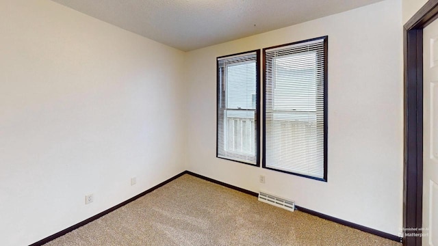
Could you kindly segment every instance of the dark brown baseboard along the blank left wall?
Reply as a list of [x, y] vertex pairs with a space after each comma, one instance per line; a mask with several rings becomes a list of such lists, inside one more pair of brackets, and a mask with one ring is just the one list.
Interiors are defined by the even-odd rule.
[[85, 226], [86, 224], [90, 223], [91, 221], [94, 221], [95, 219], [99, 219], [103, 215], [107, 215], [108, 213], [111, 213], [112, 211], [116, 210], [117, 208], [120, 208], [122, 206], [125, 206], [126, 204], [129, 204], [129, 202], [133, 202], [134, 200], [137, 200], [138, 198], [142, 197], [143, 195], [146, 195], [147, 193], [150, 193], [151, 191], [154, 191], [155, 189], [162, 187], [164, 184], [167, 184], [168, 182], [175, 180], [176, 178], [179, 178], [187, 173], [188, 173], [187, 171], [181, 172], [181, 174], [177, 174], [177, 175], [173, 176], [172, 178], [169, 178], [168, 180], [155, 185], [155, 187], [152, 187], [151, 189], [148, 189], [147, 191], [144, 191], [144, 192], [136, 195], [135, 197], [132, 197], [129, 200], [126, 200], [125, 202], [117, 204], [116, 206], [113, 206], [112, 208], [108, 208], [107, 210], [105, 210], [97, 215], [94, 215], [93, 217], [90, 217], [84, 221], [81, 221], [81, 222], [75, 224], [74, 226], [70, 226], [69, 228], [66, 228], [66, 229], [64, 229], [60, 232], [57, 232], [51, 236], [47, 236], [47, 238], [43, 238], [42, 240], [40, 240], [36, 243], [32, 243], [29, 246], [40, 246], [40, 245], [44, 245], [45, 243], [49, 243], [53, 239], [58, 238], [60, 236], [63, 236], [63, 235], [65, 235], [68, 232], [71, 232], [73, 230], [76, 230], [77, 228], [80, 228], [81, 226]]

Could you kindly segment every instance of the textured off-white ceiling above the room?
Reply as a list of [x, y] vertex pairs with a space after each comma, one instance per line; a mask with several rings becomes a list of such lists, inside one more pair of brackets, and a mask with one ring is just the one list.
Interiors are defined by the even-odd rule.
[[52, 1], [181, 51], [192, 51], [381, 0]]

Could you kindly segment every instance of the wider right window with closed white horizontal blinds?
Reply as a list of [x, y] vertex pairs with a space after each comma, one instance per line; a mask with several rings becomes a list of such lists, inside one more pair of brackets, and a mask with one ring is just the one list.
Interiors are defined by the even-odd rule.
[[263, 167], [327, 179], [327, 37], [263, 49]]

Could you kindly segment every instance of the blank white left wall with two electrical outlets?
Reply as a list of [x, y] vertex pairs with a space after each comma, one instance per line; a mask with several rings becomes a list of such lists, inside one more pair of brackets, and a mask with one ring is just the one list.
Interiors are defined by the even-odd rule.
[[47, 0], [0, 0], [0, 33], [1, 245], [185, 170], [183, 52]]

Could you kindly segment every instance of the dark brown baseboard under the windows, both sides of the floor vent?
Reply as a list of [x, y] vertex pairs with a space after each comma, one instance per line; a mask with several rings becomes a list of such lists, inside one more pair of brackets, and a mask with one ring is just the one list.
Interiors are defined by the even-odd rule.
[[[240, 187], [235, 187], [234, 185], [227, 184], [227, 183], [224, 183], [224, 182], [220, 182], [218, 180], [214, 180], [213, 178], [207, 178], [207, 177], [199, 175], [199, 174], [194, 174], [193, 172], [190, 172], [190, 171], [186, 171], [186, 173], [190, 174], [192, 176], [195, 176], [197, 178], [202, 178], [203, 180], [207, 180], [207, 181], [210, 181], [210, 182], [214, 182], [216, 184], [223, 185], [224, 187], [235, 189], [236, 191], [241, 191], [241, 192], [249, 194], [249, 195], [254, 195], [255, 197], [259, 196], [258, 193], [255, 193], [253, 191], [248, 191], [248, 190], [242, 189]], [[299, 210], [299, 211], [304, 212], [304, 213], [308, 213], [309, 215], [314, 215], [314, 216], [320, 217], [322, 219], [333, 221], [335, 223], [340, 223], [341, 225], [348, 226], [350, 228], [355, 228], [355, 229], [361, 230], [363, 232], [368, 232], [368, 233], [374, 234], [376, 236], [381, 236], [383, 238], [387, 238], [387, 239], [390, 239], [392, 241], [402, 242], [402, 238], [400, 238], [400, 236], [395, 236], [393, 234], [389, 234], [389, 233], [386, 233], [386, 232], [381, 232], [379, 230], [368, 228], [366, 226], [361, 226], [361, 225], [358, 225], [357, 223], [352, 223], [350, 221], [344, 221], [343, 219], [337, 219], [335, 217], [331, 217], [329, 215], [324, 215], [322, 213], [318, 213], [316, 211], [313, 211], [313, 210], [310, 210], [310, 209], [307, 209], [307, 208], [303, 208], [303, 207], [300, 207], [300, 206], [295, 206], [295, 208], [296, 208], [296, 210]]]

